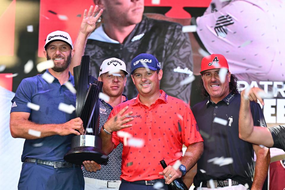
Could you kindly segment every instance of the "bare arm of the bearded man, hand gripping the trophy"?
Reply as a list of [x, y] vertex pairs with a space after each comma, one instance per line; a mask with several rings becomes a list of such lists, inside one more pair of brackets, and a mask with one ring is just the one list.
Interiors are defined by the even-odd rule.
[[[30, 113], [12, 112], [10, 114], [10, 132], [14, 138], [39, 139], [51, 135], [84, 134], [83, 122], [80, 118], [72, 119], [64, 124], [36, 124], [29, 121]], [[29, 134], [29, 129], [41, 132], [41, 136]], [[80, 131], [77, 132], [75, 129]]]

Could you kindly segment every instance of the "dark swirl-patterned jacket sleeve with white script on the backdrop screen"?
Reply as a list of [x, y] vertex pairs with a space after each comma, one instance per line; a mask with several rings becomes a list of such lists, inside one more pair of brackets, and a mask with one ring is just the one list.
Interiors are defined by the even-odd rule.
[[[193, 71], [191, 43], [188, 34], [182, 33], [181, 25], [177, 24], [174, 28], [169, 28], [168, 30], [169, 32], [165, 37], [166, 47], [164, 47], [166, 53], [161, 65], [163, 77], [160, 88], [166, 94], [188, 103], [190, 101], [192, 83], [183, 86], [179, 85], [179, 83], [189, 77]], [[180, 72], [178, 72], [179, 70]]]

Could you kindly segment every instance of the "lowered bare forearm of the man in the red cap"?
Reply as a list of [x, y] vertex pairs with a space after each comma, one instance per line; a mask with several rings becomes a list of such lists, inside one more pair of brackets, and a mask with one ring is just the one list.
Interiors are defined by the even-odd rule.
[[252, 145], [256, 154], [255, 174], [251, 190], [261, 190], [270, 164], [269, 148]]

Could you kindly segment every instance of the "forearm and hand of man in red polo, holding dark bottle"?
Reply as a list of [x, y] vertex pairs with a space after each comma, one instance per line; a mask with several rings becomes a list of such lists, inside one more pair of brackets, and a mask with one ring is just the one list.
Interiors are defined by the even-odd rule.
[[[203, 153], [203, 143], [197, 142], [189, 145], [185, 151], [185, 155], [181, 159], [181, 164], [186, 167], [186, 171], [190, 170], [198, 161]], [[172, 176], [170, 178], [169, 174]], [[159, 175], [164, 175], [166, 177], [165, 183], [170, 184], [173, 180], [181, 178], [182, 172], [177, 169], [175, 170], [172, 166], [167, 166]]]

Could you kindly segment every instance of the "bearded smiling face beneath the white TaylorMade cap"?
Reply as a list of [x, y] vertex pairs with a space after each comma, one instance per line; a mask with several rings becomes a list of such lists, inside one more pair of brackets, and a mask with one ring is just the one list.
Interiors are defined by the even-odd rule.
[[69, 67], [74, 50], [65, 42], [55, 41], [47, 46], [44, 54], [47, 60], [53, 60], [54, 67], [52, 69], [55, 72], [63, 72]]

